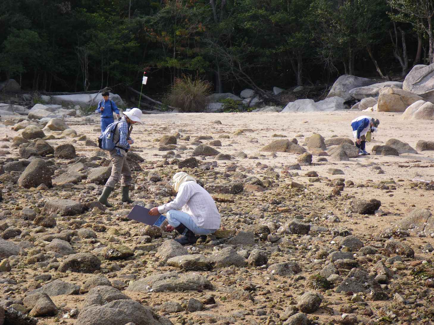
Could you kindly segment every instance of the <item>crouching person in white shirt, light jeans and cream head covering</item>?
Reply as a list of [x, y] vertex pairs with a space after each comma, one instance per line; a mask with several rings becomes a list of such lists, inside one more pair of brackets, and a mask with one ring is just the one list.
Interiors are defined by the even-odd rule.
[[166, 213], [169, 225], [166, 231], [176, 229], [183, 236], [175, 238], [182, 244], [195, 244], [197, 235], [213, 234], [220, 228], [221, 216], [211, 195], [194, 177], [185, 172], [177, 172], [172, 177], [176, 198], [149, 211], [150, 215]]

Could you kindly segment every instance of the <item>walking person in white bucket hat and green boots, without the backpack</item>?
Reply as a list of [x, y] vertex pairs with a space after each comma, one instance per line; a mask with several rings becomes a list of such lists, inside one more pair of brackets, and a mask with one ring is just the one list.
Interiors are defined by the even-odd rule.
[[126, 156], [128, 149], [134, 141], [131, 139], [130, 135], [133, 130], [132, 125], [141, 122], [141, 110], [138, 108], [133, 108], [128, 112], [123, 112], [124, 116], [119, 119], [118, 127], [115, 128], [113, 133], [113, 142], [116, 143], [115, 148], [110, 151], [110, 158], [112, 159], [112, 174], [105, 183], [102, 194], [98, 201], [107, 207], [112, 207], [107, 199], [110, 193], [115, 188], [116, 183], [121, 180], [122, 187], [122, 202], [132, 203], [129, 198], [129, 188], [131, 185], [131, 169], [128, 165]]

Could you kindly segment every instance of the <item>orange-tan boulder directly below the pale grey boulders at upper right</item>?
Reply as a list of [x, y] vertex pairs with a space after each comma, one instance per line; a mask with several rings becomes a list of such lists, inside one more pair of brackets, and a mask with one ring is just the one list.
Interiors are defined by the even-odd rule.
[[404, 112], [408, 106], [423, 98], [399, 88], [383, 88], [378, 96], [378, 112]]

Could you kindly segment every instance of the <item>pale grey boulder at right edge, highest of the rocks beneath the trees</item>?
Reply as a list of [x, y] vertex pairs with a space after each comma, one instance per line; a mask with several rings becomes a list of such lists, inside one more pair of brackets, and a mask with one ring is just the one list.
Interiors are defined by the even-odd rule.
[[402, 89], [420, 95], [425, 101], [433, 101], [434, 64], [415, 65], [405, 77]]

